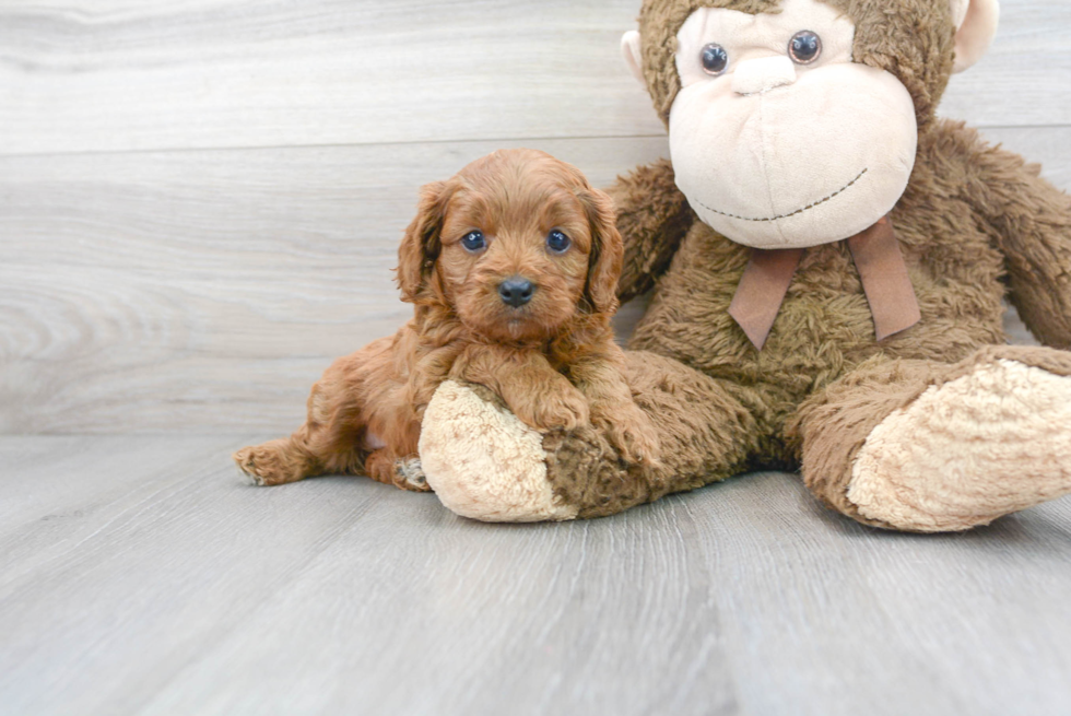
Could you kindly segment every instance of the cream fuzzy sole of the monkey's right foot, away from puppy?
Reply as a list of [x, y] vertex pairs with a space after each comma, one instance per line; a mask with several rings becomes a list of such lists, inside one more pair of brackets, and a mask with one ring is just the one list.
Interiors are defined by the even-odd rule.
[[956, 531], [1071, 492], [1071, 377], [1000, 360], [882, 421], [848, 500], [899, 529]]

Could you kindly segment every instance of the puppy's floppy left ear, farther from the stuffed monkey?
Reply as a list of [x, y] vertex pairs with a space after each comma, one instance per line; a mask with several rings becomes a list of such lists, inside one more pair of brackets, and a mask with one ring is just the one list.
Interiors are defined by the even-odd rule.
[[428, 277], [439, 255], [439, 234], [454, 189], [447, 181], [433, 181], [421, 187], [416, 216], [398, 247], [396, 279], [402, 301], [419, 303], [426, 292]]

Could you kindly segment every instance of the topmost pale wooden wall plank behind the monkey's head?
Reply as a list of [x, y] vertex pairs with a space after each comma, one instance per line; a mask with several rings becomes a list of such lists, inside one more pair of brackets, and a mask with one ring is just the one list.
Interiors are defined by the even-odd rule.
[[[1003, 0], [942, 114], [1071, 125], [1064, 0]], [[12, 0], [0, 154], [660, 136], [638, 0]]]

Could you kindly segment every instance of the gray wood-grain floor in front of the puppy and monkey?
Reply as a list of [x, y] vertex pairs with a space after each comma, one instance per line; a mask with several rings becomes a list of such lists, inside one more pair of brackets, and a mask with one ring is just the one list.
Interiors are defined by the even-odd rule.
[[493, 526], [246, 486], [250, 437], [0, 438], [0, 714], [1067, 713], [1067, 498], [905, 536], [763, 473]]

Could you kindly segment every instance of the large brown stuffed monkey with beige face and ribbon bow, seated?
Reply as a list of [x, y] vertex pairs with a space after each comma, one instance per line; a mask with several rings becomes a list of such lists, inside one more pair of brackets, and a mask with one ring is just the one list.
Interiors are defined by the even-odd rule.
[[[997, 0], [646, 0], [628, 64], [671, 161], [612, 187], [619, 293], [654, 296], [629, 465], [444, 384], [421, 458], [484, 520], [610, 515], [798, 468], [867, 525], [965, 530], [1071, 492], [1071, 198], [934, 109]], [[1002, 300], [1045, 348], [1009, 347]]]

